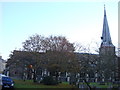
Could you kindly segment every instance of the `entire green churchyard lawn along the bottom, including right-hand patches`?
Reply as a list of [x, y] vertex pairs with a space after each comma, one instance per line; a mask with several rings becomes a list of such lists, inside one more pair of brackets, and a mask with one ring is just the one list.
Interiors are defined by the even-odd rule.
[[[58, 85], [43, 85], [43, 84], [37, 84], [33, 83], [32, 80], [14, 80], [15, 81], [15, 88], [76, 88], [75, 86], [69, 85], [68, 82], [63, 82]], [[80, 83], [85, 84], [85, 83]], [[99, 83], [90, 83], [91, 87], [98, 87], [98, 88], [108, 88], [110, 87], [110, 84], [112, 83], [105, 83], [105, 85], [100, 85]], [[112, 86], [118, 86], [118, 85], [112, 85]]]

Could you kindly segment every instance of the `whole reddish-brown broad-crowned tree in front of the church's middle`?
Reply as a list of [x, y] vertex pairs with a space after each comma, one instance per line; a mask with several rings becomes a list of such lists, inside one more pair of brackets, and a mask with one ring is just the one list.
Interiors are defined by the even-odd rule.
[[50, 36], [47, 37], [45, 41], [44, 45], [49, 59], [47, 69], [52, 72], [53, 75], [56, 75], [57, 78], [59, 72], [65, 72], [70, 69], [67, 65], [71, 59], [73, 60], [74, 44], [70, 43], [63, 36]]

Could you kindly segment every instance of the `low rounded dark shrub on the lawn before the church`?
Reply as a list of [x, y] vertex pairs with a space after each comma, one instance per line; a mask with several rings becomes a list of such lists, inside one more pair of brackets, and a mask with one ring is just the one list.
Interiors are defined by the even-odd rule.
[[54, 80], [52, 76], [46, 76], [43, 78], [41, 83], [43, 83], [45, 85], [57, 85], [58, 81]]

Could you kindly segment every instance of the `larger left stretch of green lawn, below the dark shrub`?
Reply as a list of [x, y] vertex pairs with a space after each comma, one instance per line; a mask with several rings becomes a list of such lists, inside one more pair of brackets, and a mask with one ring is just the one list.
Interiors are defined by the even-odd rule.
[[75, 86], [69, 85], [68, 83], [60, 83], [58, 85], [43, 85], [33, 83], [31, 80], [14, 80], [15, 88], [75, 88]]

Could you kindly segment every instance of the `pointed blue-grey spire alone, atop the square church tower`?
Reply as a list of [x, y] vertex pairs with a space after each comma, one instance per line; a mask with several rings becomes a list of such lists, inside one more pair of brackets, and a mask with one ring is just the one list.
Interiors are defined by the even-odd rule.
[[110, 32], [109, 32], [109, 26], [108, 26], [108, 21], [107, 21], [107, 16], [106, 16], [105, 5], [104, 5], [103, 32], [102, 32], [101, 39], [102, 39], [101, 46], [113, 46]]

